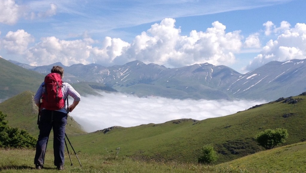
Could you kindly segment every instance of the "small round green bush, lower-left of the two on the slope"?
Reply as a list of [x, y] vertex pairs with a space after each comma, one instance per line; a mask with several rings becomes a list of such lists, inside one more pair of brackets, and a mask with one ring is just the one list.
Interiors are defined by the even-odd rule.
[[212, 145], [205, 145], [202, 148], [202, 156], [198, 158], [198, 162], [201, 164], [211, 164], [218, 159], [217, 153]]

